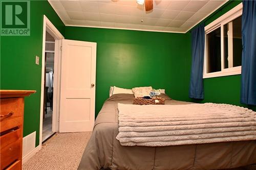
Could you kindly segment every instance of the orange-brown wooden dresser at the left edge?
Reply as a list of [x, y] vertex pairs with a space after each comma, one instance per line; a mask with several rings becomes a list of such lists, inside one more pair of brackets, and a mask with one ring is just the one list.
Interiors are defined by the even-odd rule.
[[33, 90], [0, 90], [0, 169], [22, 169], [24, 97]]

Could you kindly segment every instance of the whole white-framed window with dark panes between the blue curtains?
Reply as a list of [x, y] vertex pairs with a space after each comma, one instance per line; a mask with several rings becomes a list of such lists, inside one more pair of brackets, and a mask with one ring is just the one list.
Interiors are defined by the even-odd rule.
[[241, 74], [242, 3], [205, 27], [203, 78]]

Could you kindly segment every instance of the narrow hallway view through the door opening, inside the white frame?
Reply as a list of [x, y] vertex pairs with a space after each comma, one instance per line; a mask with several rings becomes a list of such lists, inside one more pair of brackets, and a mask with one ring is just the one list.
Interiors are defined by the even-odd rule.
[[45, 43], [45, 94], [44, 113], [42, 119], [42, 142], [50, 138], [55, 132], [52, 130], [53, 117], [53, 81], [54, 81], [54, 46], [55, 39], [46, 31]]

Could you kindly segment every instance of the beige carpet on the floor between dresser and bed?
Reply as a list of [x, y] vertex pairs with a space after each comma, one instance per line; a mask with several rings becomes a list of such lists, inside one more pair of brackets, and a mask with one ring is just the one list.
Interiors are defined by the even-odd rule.
[[57, 133], [23, 164], [23, 170], [75, 170], [92, 132]]

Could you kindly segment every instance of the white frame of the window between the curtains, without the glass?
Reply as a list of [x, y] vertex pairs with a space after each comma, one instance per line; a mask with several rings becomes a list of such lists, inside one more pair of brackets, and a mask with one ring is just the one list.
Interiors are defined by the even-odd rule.
[[[205, 45], [204, 45], [204, 70], [203, 78], [212, 78], [212, 77], [221, 77], [221, 76], [230, 76], [230, 75], [239, 75], [241, 74], [242, 66], [225, 68], [224, 66], [224, 25], [237, 17], [242, 15], [243, 5], [242, 3], [211, 22], [209, 25], [204, 27], [205, 30]], [[207, 73], [207, 39], [206, 35], [217, 28], [221, 28], [221, 71]], [[229, 50], [232, 51], [232, 46], [228, 46]]]

